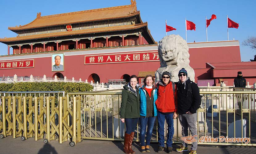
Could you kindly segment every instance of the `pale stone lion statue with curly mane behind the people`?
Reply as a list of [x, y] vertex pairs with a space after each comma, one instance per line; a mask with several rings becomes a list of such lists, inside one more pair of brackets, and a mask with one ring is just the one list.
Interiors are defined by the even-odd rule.
[[180, 35], [168, 35], [158, 43], [160, 67], [155, 72], [155, 81], [162, 78], [164, 71], [171, 73], [171, 81], [178, 82], [178, 73], [181, 68], [188, 71], [188, 77], [195, 81], [195, 72], [189, 66], [188, 44]]

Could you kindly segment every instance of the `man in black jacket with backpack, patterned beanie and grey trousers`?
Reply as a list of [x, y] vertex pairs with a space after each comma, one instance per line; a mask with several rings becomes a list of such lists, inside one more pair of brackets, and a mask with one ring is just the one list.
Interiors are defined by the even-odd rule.
[[[179, 71], [179, 82], [177, 83], [178, 93], [178, 114], [182, 127], [182, 137], [188, 136], [188, 128], [194, 139], [197, 140], [197, 126], [196, 126], [196, 111], [201, 102], [201, 96], [199, 88], [196, 83], [190, 81], [188, 78], [188, 72], [182, 68]], [[191, 89], [189, 90], [189, 84]], [[192, 90], [192, 91], [191, 91]], [[192, 147], [189, 154], [196, 154], [197, 141], [192, 142]], [[176, 151], [183, 152], [188, 151], [188, 144], [184, 141], [180, 148]]]

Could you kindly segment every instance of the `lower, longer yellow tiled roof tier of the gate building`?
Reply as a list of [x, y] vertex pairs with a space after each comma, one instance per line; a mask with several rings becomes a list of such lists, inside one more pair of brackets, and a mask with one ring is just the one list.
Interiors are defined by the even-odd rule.
[[147, 22], [135, 25], [122, 25], [122, 26], [111, 26], [111, 27], [101, 27], [101, 28], [91, 28], [85, 30], [72, 30], [72, 31], [62, 31], [56, 33], [46, 33], [46, 34], [36, 34], [36, 35], [26, 35], [26, 36], [17, 36], [12, 38], [3, 38], [0, 39], [0, 42], [12, 42], [12, 41], [22, 41], [30, 39], [41, 39], [41, 38], [50, 38], [58, 36], [68, 36], [76, 34], [91, 34], [91, 33], [102, 33], [102, 32], [114, 32], [121, 30], [134, 30], [147, 26]]

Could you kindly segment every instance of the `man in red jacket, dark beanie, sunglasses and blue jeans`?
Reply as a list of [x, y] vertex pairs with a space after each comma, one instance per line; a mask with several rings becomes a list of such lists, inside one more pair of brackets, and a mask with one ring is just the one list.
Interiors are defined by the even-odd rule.
[[[177, 92], [175, 83], [170, 81], [170, 73], [163, 72], [162, 79], [157, 84], [158, 96], [155, 102], [158, 120], [158, 151], [163, 152], [164, 147], [164, 122], [167, 122], [167, 153], [172, 153], [172, 137], [174, 134], [173, 119], [176, 119]], [[175, 91], [175, 92], [174, 92]]]

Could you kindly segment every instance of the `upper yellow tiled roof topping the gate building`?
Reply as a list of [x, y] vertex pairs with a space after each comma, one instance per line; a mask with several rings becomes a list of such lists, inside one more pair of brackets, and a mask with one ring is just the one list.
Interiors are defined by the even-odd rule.
[[125, 6], [107, 7], [101, 9], [84, 10], [48, 16], [41, 16], [41, 13], [37, 13], [37, 18], [34, 21], [23, 26], [8, 27], [8, 29], [23, 30], [45, 26], [124, 18], [134, 16], [136, 14], [139, 14], [139, 11], [136, 7], [136, 1], [131, 0], [131, 5]]

